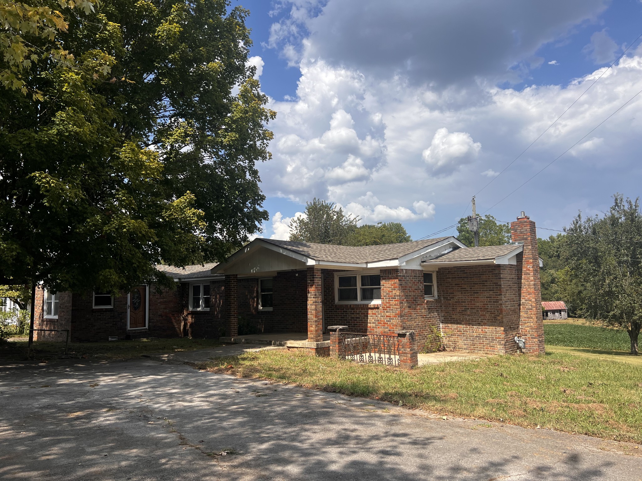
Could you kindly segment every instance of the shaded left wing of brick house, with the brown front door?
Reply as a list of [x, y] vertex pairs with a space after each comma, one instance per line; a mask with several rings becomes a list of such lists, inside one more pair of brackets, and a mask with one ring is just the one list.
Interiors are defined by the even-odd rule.
[[[215, 266], [216, 263], [157, 266], [159, 271], [173, 278], [175, 289], [157, 291], [141, 285], [119, 296], [96, 291], [49, 292], [39, 287], [34, 327], [68, 329], [73, 342], [107, 341], [114, 337], [219, 337], [218, 332], [209, 332], [212, 327], [209, 289], [211, 283], [223, 278], [211, 273]], [[198, 299], [189, 295], [195, 286], [200, 289]], [[64, 341], [65, 335], [64, 332], [35, 332], [34, 339]]]

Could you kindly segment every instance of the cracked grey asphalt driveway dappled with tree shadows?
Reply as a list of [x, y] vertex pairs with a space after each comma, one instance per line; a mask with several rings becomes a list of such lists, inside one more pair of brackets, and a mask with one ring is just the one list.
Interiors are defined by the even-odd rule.
[[151, 359], [0, 366], [3, 480], [633, 481], [639, 451]]

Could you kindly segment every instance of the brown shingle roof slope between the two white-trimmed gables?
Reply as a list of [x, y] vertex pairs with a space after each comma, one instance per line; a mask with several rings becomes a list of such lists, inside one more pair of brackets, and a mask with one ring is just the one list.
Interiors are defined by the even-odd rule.
[[376, 262], [403, 257], [406, 254], [418, 251], [448, 237], [436, 237], [424, 241], [402, 242], [401, 244], [384, 244], [383, 246], [333, 246], [332, 244], [313, 244], [311, 242], [277, 241], [275, 239], [261, 239], [275, 246], [297, 252], [314, 260], [325, 262], [346, 262], [360, 264], [361, 262]]

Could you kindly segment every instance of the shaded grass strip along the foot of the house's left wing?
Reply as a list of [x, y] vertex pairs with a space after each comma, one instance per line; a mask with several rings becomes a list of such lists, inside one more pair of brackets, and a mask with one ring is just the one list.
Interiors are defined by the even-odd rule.
[[[193, 351], [216, 346], [221, 346], [221, 342], [214, 339], [189, 339], [188, 337], [136, 339], [134, 341], [70, 342], [69, 356], [129, 359], [150, 353]], [[64, 357], [64, 350], [64, 342], [36, 341], [33, 343], [35, 359]], [[24, 337], [10, 338], [6, 344], [0, 344], [0, 359], [25, 359], [26, 352], [27, 340]]]

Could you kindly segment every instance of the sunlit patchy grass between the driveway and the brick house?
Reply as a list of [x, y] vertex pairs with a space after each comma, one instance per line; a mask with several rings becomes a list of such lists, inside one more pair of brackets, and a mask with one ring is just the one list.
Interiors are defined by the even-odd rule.
[[494, 356], [412, 371], [259, 351], [198, 366], [421, 408], [440, 415], [642, 443], [642, 373], [565, 353]]

